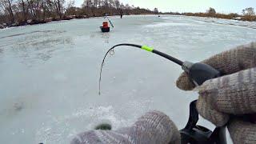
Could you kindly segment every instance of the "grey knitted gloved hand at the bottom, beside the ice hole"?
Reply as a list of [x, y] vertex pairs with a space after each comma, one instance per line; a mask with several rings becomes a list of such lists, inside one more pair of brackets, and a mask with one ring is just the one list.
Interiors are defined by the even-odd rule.
[[71, 144], [178, 144], [180, 134], [174, 122], [161, 112], [152, 111], [134, 123], [120, 130], [90, 130], [78, 134]]

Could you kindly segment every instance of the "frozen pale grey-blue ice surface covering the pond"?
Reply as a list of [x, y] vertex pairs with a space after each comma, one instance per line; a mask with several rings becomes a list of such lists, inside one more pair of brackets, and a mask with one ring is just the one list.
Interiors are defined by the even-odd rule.
[[181, 129], [197, 98], [175, 86], [181, 68], [142, 50], [119, 48], [106, 59], [98, 95], [106, 50], [122, 42], [146, 44], [198, 62], [256, 40], [252, 22], [179, 16], [111, 20], [114, 29], [107, 34], [98, 29], [103, 18], [0, 30], [2, 143], [69, 143], [99, 122], [118, 129], [149, 110], [165, 112]]

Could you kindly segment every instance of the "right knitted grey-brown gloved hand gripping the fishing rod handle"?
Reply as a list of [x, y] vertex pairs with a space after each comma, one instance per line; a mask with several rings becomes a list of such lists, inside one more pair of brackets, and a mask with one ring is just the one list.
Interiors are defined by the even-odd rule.
[[[225, 76], [208, 80], [197, 88], [198, 113], [216, 126], [227, 124], [234, 143], [256, 143], [256, 124], [230, 116], [256, 113], [256, 42], [203, 62]], [[194, 89], [186, 73], [181, 74], [176, 84], [182, 90]]]

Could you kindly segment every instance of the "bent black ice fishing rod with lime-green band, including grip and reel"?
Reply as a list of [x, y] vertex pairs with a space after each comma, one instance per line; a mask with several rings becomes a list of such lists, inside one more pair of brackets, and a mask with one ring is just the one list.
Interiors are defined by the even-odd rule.
[[[162, 53], [161, 51], [154, 50], [149, 46], [140, 46], [135, 44], [129, 43], [122, 43], [116, 46], [113, 46], [108, 50], [102, 60], [102, 67], [104, 65], [105, 59], [107, 54], [111, 54], [111, 51], [114, 51], [115, 47], [118, 46], [133, 46], [137, 47], [142, 50], [149, 51], [154, 54], [158, 54], [163, 58], [170, 60], [182, 66], [182, 69], [186, 71], [189, 75], [190, 79], [194, 82], [196, 86], [202, 85], [203, 82], [209, 80], [211, 78], [217, 78], [221, 76], [221, 73], [218, 70], [215, 70], [212, 66], [206, 65], [201, 62], [192, 63], [192, 62], [182, 62], [181, 60], [174, 58], [168, 54]], [[98, 94], [101, 94], [101, 81], [102, 81], [102, 67], [100, 71], [100, 78], [99, 78], [99, 86], [98, 86]], [[182, 144], [202, 144], [202, 143], [209, 143], [209, 144], [226, 144], [226, 127], [216, 127], [215, 130], [212, 132], [211, 130], [207, 129], [203, 126], [198, 126], [198, 110], [196, 109], [196, 102], [190, 103], [190, 117], [189, 121], [187, 122], [184, 129], [180, 130]]]

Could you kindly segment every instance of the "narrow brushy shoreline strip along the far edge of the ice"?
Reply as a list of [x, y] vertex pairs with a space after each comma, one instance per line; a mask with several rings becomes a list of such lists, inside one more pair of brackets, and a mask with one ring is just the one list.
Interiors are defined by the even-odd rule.
[[[231, 18], [228, 16], [229, 14], [219, 14], [219, 15], [214, 15], [214, 16], [209, 16], [204, 13], [200, 14], [192, 14], [192, 13], [186, 13], [186, 14], [134, 14], [134, 15], [182, 15], [182, 16], [194, 16], [194, 17], [203, 17], [203, 18], [218, 18], [218, 19], [230, 19], [230, 20], [237, 20], [237, 21], [245, 21], [245, 22], [256, 22], [256, 18], [244, 18], [242, 16], [240, 17], [234, 17]], [[119, 15], [109, 15], [109, 16], [119, 16]], [[126, 15], [127, 16], [127, 15]], [[93, 16], [93, 17], [88, 17], [86, 15], [70, 15], [67, 16], [66, 18], [46, 18], [45, 20], [27, 20], [26, 22], [19, 22], [19, 23], [12, 23], [12, 24], [0, 24], [0, 29], [6, 29], [10, 27], [18, 27], [18, 26], [33, 26], [33, 25], [38, 25], [38, 24], [44, 24], [48, 22], [58, 22], [58, 21], [67, 21], [67, 20], [72, 20], [72, 19], [86, 19], [86, 18], [100, 18], [104, 16]]]

